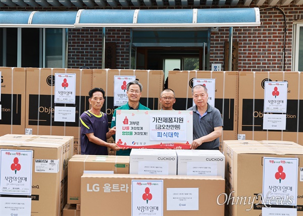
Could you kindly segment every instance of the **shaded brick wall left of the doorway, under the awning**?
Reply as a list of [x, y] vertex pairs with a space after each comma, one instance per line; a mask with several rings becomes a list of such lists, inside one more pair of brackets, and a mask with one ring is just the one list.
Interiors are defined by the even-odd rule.
[[[102, 68], [103, 28], [69, 29], [68, 68]], [[106, 28], [106, 42], [116, 43], [116, 68], [129, 68], [130, 29]]]

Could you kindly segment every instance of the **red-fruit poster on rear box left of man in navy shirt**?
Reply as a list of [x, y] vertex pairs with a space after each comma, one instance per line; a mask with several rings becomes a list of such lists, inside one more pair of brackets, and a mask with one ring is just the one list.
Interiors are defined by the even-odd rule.
[[76, 103], [76, 74], [55, 73], [55, 103]]

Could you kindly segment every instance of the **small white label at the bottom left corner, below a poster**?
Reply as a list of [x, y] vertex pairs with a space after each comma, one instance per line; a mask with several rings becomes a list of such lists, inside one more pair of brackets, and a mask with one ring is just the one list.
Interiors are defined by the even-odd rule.
[[31, 198], [0, 197], [0, 215], [31, 215]]

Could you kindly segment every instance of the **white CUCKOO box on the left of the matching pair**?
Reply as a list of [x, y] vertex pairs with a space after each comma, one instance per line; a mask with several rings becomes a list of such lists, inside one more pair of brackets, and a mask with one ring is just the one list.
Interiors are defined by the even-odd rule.
[[133, 148], [129, 173], [143, 175], [177, 175], [177, 154], [174, 149]]

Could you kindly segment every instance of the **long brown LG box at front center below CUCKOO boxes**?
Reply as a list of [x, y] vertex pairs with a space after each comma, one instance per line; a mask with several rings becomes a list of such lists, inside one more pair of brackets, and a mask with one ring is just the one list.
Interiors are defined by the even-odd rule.
[[224, 215], [217, 204], [224, 182], [219, 176], [84, 174], [81, 215]]

